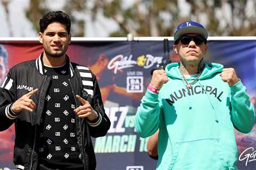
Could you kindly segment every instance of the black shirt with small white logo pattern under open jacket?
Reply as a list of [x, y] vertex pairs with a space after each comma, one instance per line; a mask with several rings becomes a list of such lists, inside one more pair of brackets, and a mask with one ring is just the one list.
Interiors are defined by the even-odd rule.
[[44, 66], [51, 77], [47, 90], [39, 142], [39, 163], [51, 168], [83, 168], [77, 144], [76, 107], [69, 78], [68, 63], [61, 67]]

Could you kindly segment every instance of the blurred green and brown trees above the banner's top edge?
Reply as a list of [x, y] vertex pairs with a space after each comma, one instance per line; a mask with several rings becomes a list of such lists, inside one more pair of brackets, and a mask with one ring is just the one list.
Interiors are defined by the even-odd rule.
[[[88, 5], [90, 4], [90, 5]], [[248, 14], [247, 7], [253, 14]], [[85, 22], [77, 17], [91, 13], [114, 20], [119, 30], [109, 36], [173, 36], [175, 27], [184, 21], [203, 23], [210, 36], [254, 36], [256, 1], [251, 0], [66, 0], [63, 11], [70, 15], [73, 36], [84, 36]], [[89, 7], [90, 6], [90, 7]], [[38, 20], [49, 11], [45, 0], [30, 0], [27, 18], [38, 31]], [[72, 29], [73, 28], [73, 29]]]

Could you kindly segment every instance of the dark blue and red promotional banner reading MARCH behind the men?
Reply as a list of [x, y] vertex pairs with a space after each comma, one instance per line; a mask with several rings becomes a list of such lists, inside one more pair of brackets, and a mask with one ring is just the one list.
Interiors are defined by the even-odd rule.
[[[36, 41], [0, 41], [0, 44], [9, 56], [7, 71], [15, 64], [34, 60], [42, 52], [42, 45]], [[162, 64], [164, 56], [172, 62], [179, 61], [172, 45], [170, 41], [170, 53], [167, 55], [163, 41], [80, 41], [69, 46], [67, 54], [71, 61], [88, 66], [96, 75], [105, 110], [111, 120], [106, 137], [93, 139], [97, 169], [155, 169], [156, 161], [146, 153], [147, 139], [140, 138], [134, 129], [134, 115], [149, 84], [150, 70]], [[256, 40], [209, 41], [205, 60], [233, 67], [247, 87], [255, 107]], [[15, 169], [12, 163], [14, 138], [14, 126], [0, 132], [0, 169]], [[238, 168], [254, 169], [256, 127], [249, 134], [236, 131], [236, 142]]]

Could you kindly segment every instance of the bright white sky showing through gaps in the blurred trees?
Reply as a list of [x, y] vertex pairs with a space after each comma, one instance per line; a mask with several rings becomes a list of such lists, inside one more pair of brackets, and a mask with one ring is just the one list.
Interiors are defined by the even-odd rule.
[[[8, 22], [6, 21], [6, 13], [2, 5], [2, 1], [9, 1], [9, 22], [11, 27], [9, 27]], [[38, 32], [33, 29], [33, 25], [28, 21], [25, 16], [26, 8], [29, 6], [30, 0], [0, 0], [0, 37], [38, 37]], [[51, 7], [54, 10], [60, 10], [65, 0], [45, 0], [47, 6]], [[92, 4], [93, 0], [87, 1]], [[129, 6], [134, 3], [134, 0], [123, 0], [124, 6]], [[190, 7], [186, 3], [186, 0], [178, 1], [178, 7], [180, 10], [181, 16], [188, 16], [190, 12]], [[246, 6], [246, 15], [254, 15], [255, 9], [253, 7], [253, 1], [249, 1]], [[147, 9], [146, 9], [147, 10]], [[223, 6], [222, 9], [219, 9], [216, 13], [220, 20], [220, 27], [226, 27], [226, 21], [231, 20], [232, 16], [229, 12], [230, 9], [228, 6]], [[85, 21], [85, 37], [108, 37], [110, 32], [116, 31], [119, 28], [119, 25], [115, 23], [114, 20], [107, 19], [103, 16], [102, 13], [97, 15], [97, 20], [91, 20], [90, 10], [85, 11], [83, 14], [77, 15], [77, 18], [83, 19]], [[168, 16], [165, 15], [166, 21], [169, 20]], [[205, 19], [204, 15], [201, 15], [201, 23], [206, 25], [209, 22]], [[225, 19], [225, 20], [224, 20]], [[168, 23], [168, 22], [166, 22]], [[236, 24], [239, 21], [235, 22]]]

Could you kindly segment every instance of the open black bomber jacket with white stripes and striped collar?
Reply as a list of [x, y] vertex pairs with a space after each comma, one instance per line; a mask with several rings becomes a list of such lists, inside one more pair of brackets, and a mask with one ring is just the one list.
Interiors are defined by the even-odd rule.
[[[13, 162], [18, 169], [37, 169], [38, 163], [38, 141], [39, 125], [43, 114], [45, 94], [49, 87], [50, 77], [43, 74], [43, 55], [36, 60], [27, 61], [15, 65], [10, 69], [2, 86], [0, 87], [0, 131], [8, 129], [15, 124], [15, 144]], [[86, 118], [78, 118], [76, 115], [76, 133], [79, 149], [82, 151], [82, 160], [85, 169], [95, 169], [96, 160], [92, 146], [91, 137], [102, 137], [106, 135], [110, 121], [103, 108], [101, 93], [95, 75], [85, 66], [70, 62], [69, 82], [73, 89], [76, 107], [81, 103], [76, 95], [88, 94], [86, 100], [90, 102], [93, 109], [98, 113], [94, 122]], [[31, 99], [36, 104], [34, 112], [21, 111], [15, 114], [11, 111], [11, 105], [27, 94], [38, 88], [39, 91]]]

